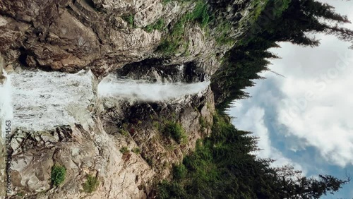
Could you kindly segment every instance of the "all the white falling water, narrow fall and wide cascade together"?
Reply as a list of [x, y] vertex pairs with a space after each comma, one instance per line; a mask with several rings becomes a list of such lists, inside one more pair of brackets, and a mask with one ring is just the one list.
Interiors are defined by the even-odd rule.
[[[179, 69], [183, 70], [182, 67]], [[0, 85], [3, 136], [6, 120], [11, 120], [12, 128], [44, 131], [55, 126], [87, 123], [91, 119], [88, 107], [95, 103], [95, 95], [90, 71], [75, 74], [13, 71], [5, 76], [6, 81]], [[181, 80], [177, 83], [149, 83], [148, 80], [109, 75], [99, 83], [97, 91], [100, 97], [114, 103], [121, 100], [160, 102], [200, 94], [209, 84], [209, 81], [186, 84]]]

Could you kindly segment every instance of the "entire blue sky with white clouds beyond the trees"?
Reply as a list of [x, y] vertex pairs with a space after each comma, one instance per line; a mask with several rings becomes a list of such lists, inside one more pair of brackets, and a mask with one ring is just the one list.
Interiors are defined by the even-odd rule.
[[[353, 21], [353, 3], [327, 1]], [[353, 25], [347, 25], [352, 28]], [[275, 166], [292, 164], [306, 176], [331, 174], [353, 177], [353, 50], [335, 37], [315, 35], [320, 47], [281, 43], [273, 52], [265, 80], [246, 91], [249, 99], [234, 102], [229, 114], [234, 126], [260, 137], [261, 157], [277, 159]], [[353, 182], [335, 195], [353, 198]]]

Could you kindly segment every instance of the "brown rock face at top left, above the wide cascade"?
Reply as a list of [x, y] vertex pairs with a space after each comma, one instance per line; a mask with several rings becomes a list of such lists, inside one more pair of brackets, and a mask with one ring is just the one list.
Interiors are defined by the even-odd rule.
[[[0, 52], [9, 63], [19, 60], [30, 67], [69, 72], [90, 67], [100, 76], [143, 59], [160, 40], [160, 32], [128, 28], [121, 20], [126, 12], [154, 20], [154, 12], [145, 11], [147, 3], [2, 1]], [[100, 5], [102, 11], [97, 11]]]

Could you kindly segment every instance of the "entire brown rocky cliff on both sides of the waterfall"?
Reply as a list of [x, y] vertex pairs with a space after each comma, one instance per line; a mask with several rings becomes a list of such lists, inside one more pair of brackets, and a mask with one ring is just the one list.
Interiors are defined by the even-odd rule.
[[[209, 3], [216, 19], [241, 20], [249, 9], [249, 1]], [[8, 198], [154, 197], [156, 183], [168, 179], [172, 165], [193, 150], [196, 140], [210, 134], [213, 92], [208, 88], [168, 102], [113, 103], [97, 95], [97, 85], [108, 74], [151, 83], [193, 83], [212, 76], [232, 47], [217, 44], [215, 38], [224, 32], [215, 25], [204, 29], [197, 23], [186, 24], [184, 51], [169, 55], [157, 51], [170, 27], [195, 6], [191, 1], [160, 0], [0, 1], [5, 71], [90, 70], [95, 75], [94, 97], [84, 120], [42, 131], [13, 131], [13, 190]], [[146, 30], [161, 18], [166, 29]], [[233, 28], [229, 38], [241, 32]], [[4, 82], [2, 69], [0, 80]], [[188, 141], [177, 143], [165, 136], [166, 121], [180, 123]], [[124, 147], [140, 152], [121, 150]], [[59, 187], [50, 183], [54, 164], [67, 169]], [[93, 193], [83, 191], [88, 175], [100, 181]]]

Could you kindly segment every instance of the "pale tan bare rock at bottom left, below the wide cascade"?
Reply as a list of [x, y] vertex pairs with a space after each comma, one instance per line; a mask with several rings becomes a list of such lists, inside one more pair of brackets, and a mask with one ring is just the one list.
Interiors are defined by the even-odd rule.
[[[154, 171], [140, 155], [119, 152], [124, 140], [91, 127], [90, 132], [80, 125], [37, 133], [16, 131], [11, 141], [16, 191], [30, 198], [146, 198]], [[63, 185], [53, 189], [54, 164], [67, 171]], [[82, 191], [88, 174], [100, 181], [92, 194]]]

